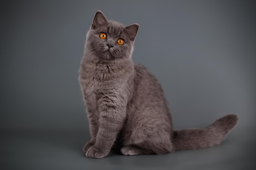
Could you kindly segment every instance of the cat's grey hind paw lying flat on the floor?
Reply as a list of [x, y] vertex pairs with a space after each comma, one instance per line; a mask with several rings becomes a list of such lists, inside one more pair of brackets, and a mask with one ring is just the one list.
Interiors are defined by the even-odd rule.
[[153, 154], [154, 152], [145, 148], [137, 146], [123, 146], [121, 148], [121, 153], [123, 155], [148, 155]]

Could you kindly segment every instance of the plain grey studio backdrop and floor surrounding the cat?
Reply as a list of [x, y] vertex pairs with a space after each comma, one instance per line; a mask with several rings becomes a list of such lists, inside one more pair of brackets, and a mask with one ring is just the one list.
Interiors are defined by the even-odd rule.
[[[249, 0], [2, 2], [1, 169], [250, 169], [256, 156], [255, 7]], [[78, 68], [96, 10], [109, 20], [140, 24], [133, 60], [159, 79], [175, 129], [239, 115], [219, 146], [83, 155], [90, 137]]]

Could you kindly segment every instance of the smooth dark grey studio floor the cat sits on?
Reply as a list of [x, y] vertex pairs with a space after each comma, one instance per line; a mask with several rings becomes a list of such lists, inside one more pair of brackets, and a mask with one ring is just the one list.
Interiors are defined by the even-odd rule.
[[90, 159], [81, 148], [85, 130], [15, 130], [1, 134], [1, 169], [4, 170], [253, 170], [255, 140], [234, 130], [219, 146], [176, 151], [165, 155], [124, 156], [110, 153]]

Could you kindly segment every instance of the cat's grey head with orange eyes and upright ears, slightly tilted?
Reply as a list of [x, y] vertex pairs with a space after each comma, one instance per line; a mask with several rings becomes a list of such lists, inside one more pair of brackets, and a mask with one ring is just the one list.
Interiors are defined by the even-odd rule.
[[108, 21], [101, 11], [97, 11], [87, 34], [85, 48], [89, 55], [99, 60], [130, 58], [138, 29], [138, 24], [123, 26]]

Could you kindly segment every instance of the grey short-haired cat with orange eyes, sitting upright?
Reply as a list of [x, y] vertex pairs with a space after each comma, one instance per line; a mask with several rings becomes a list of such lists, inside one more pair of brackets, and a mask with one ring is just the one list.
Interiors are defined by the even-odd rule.
[[138, 24], [108, 21], [101, 11], [94, 15], [79, 68], [91, 136], [85, 155], [106, 157], [114, 146], [120, 146], [123, 155], [146, 155], [219, 144], [238, 116], [226, 115], [207, 128], [173, 130], [159, 82], [132, 62], [138, 29]]

